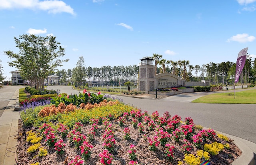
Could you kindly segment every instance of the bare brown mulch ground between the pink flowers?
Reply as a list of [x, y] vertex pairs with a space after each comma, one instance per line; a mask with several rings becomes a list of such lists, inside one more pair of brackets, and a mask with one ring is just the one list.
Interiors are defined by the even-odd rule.
[[[148, 137], [153, 138], [155, 135], [155, 131], [150, 131], [148, 127], [145, 128], [144, 133], [140, 133], [138, 129], [132, 127], [131, 121], [126, 121], [125, 127], [129, 127], [131, 130], [130, 137], [131, 139], [125, 140], [123, 138], [123, 128], [121, 128], [117, 122], [111, 121], [114, 127], [115, 132], [115, 150], [112, 153], [113, 161], [112, 165], [128, 165], [130, 161], [130, 157], [127, 151], [130, 149], [130, 145], [134, 144], [136, 146], [136, 158], [138, 163], [141, 165], [178, 165], [178, 161], [182, 161], [184, 159], [184, 153], [181, 150], [181, 145], [183, 144], [182, 141], [180, 143], [175, 142], [174, 139], [170, 139], [168, 143], [175, 146], [174, 149], [174, 160], [168, 161], [164, 155], [164, 147], [159, 145], [156, 151], [150, 151], [148, 149], [148, 141], [144, 140], [143, 135], [146, 134]], [[90, 125], [84, 125], [82, 128], [82, 133], [87, 135], [88, 130], [90, 129]], [[64, 148], [65, 153], [63, 155], [56, 154], [53, 147], [48, 147], [44, 141], [42, 140], [41, 146], [48, 150], [48, 155], [46, 157], [38, 157], [38, 151], [35, 153], [27, 153], [28, 147], [32, 144], [27, 143], [25, 140], [25, 132], [32, 130], [37, 131], [38, 128], [36, 127], [29, 127], [24, 128], [22, 120], [19, 120], [18, 125], [19, 130], [19, 146], [18, 146], [18, 164], [19, 165], [29, 165], [31, 163], [40, 162], [40, 165], [67, 165], [70, 161], [79, 153], [79, 150], [74, 147], [74, 143], [70, 143], [70, 141], [65, 138], [64, 143], [66, 146]], [[90, 158], [86, 161], [86, 165], [100, 165], [100, 157], [99, 153], [104, 150], [102, 146], [102, 133], [104, 133], [103, 125], [99, 127], [98, 133], [96, 134], [95, 140], [92, 141], [92, 154]], [[216, 138], [214, 141], [218, 143], [227, 143], [226, 141], [222, 141], [221, 139]], [[192, 141], [190, 141], [192, 143]], [[208, 141], [211, 143], [213, 141]], [[231, 163], [237, 159], [242, 152], [238, 149], [232, 141], [229, 141], [228, 144], [230, 145], [230, 149], [224, 149], [216, 156], [211, 156], [210, 164], [211, 165], [231, 165]], [[195, 155], [196, 150], [192, 149], [191, 153]]]

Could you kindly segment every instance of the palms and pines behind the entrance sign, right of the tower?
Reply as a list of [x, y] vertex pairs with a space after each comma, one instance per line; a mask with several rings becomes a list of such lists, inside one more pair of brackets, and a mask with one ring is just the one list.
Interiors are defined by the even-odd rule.
[[[234, 83], [236, 63], [234, 62], [222, 62], [208, 64], [190, 65], [189, 60], [166, 60], [162, 59], [162, 55], [153, 54], [151, 57], [155, 62], [155, 69], [157, 73], [172, 73], [180, 78], [186, 80], [187, 82], [209, 80], [210, 84], [213, 85], [230, 85]], [[166, 66], [170, 64], [170, 66]], [[158, 68], [157, 66], [160, 65]], [[192, 71], [196, 74], [192, 75]], [[256, 58], [252, 60], [252, 57], [247, 54], [246, 62], [240, 75], [239, 83], [255, 83], [256, 81]]]

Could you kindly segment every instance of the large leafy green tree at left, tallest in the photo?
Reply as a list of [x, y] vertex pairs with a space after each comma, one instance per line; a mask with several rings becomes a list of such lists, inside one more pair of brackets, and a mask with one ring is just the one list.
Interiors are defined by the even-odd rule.
[[64, 56], [65, 49], [56, 41], [56, 36], [36, 36], [24, 34], [19, 38], [14, 37], [19, 53], [11, 50], [4, 54], [12, 60], [9, 66], [15, 66], [20, 71], [24, 80], [30, 81], [30, 86], [38, 90], [44, 89], [44, 79], [53, 72], [58, 66], [62, 66], [60, 60]]

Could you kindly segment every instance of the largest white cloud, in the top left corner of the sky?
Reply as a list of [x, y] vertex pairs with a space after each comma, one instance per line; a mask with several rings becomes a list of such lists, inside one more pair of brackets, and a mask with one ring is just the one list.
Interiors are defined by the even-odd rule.
[[75, 15], [73, 8], [61, 0], [0, 0], [0, 9], [26, 8], [44, 10], [48, 13], [70, 13]]

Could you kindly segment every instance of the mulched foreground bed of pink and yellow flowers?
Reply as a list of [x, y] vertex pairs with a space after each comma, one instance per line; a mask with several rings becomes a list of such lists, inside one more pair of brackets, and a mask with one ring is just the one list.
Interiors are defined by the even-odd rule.
[[[203, 143], [211, 165], [230, 165], [241, 154], [230, 139], [212, 129], [201, 130], [190, 117], [181, 122], [178, 115], [148, 115], [123, 104], [52, 114], [36, 122], [40, 120], [46, 123], [39, 129], [19, 127], [20, 164], [196, 165], [202, 160]], [[42, 137], [34, 152], [26, 151], [35, 144], [22, 135], [30, 130], [32, 139]]]

